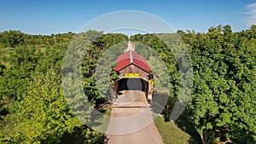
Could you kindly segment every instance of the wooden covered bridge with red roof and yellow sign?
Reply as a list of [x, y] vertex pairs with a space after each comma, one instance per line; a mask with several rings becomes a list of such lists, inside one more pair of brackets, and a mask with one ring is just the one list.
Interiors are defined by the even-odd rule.
[[114, 82], [113, 95], [122, 90], [141, 90], [145, 92], [148, 102], [152, 100], [154, 90], [154, 77], [148, 62], [142, 55], [138, 55], [131, 49], [116, 60], [114, 71], [119, 79]]

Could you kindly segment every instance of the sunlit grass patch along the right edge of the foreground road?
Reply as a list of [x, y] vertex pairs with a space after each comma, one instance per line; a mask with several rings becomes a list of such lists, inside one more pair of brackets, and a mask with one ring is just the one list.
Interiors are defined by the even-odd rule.
[[175, 123], [166, 122], [161, 116], [154, 119], [154, 124], [160, 132], [165, 144], [189, 144], [190, 135], [180, 130]]

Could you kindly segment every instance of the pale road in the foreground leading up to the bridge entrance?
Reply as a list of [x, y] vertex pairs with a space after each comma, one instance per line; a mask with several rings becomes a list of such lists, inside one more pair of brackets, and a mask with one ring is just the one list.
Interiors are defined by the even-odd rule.
[[146, 96], [125, 91], [113, 104], [107, 130], [108, 144], [163, 144]]

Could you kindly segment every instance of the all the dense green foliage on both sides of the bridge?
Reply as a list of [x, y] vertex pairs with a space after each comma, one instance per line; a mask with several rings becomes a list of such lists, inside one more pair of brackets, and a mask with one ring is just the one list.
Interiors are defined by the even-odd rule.
[[[73, 37], [82, 41], [70, 43]], [[84, 46], [80, 43], [83, 40], [90, 44]], [[74, 97], [66, 97], [61, 76], [70, 75], [74, 63], [79, 61], [62, 66], [63, 57], [67, 47], [73, 47], [72, 56], [84, 54], [80, 61], [82, 82], [77, 85], [82, 86], [92, 106], [97, 107], [106, 101], [108, 79], [97, 79], [95, 72], [106, 77], [109, 69], [105, 68], [114, 66], [108, 61], [122, 53], [127, 41], [123, 34], [96, 31], [50, 36], [1, 32], [0, 143], [64, 144], [70, 141], [67, 139], [74, 140], [73, 143], [102, 143], [103, 134], [88, 128], [84, 121], [81, 123], [76, 117], [78, 113], [69, 107], [68, 100]], [[154, 56], [164, 61], [167, 72], [165, 67], [154, 65], [160, 78], [157, 88], [169, 87], [172, 101], [183, 98], [178, 91], [183, 86], [181, 77], [189, 76], [186, 75], [188, 63], [178, 54], [184, 48], [189, 50], [194, 78], [193, 87], [187, 85], [191, 96], [183, 117], [194, 125], [202, 143], [256, 143], [256, 26], [242, 32], [232, 32], [230, 26], [218, 26], [206, 33], [138, 34], [131, 36], [131, 41], [139, 42], [137, 52], [147, 53], [149, 56], [143, 56], [151, 65], [161, 63]], [[85, 53], [81, 53], [83, 47]], [[166, 74], [169, 84], [161, 79]], [[115, 78], [113, 71], [108, 76]], [[76, 97], [74, 101], [83, 99]], [[83, 102], [76, 104], [81, 104], [76, 106], [79, 110], [84, 108]], [[90, 112], [80, 114], [90, 117]]]

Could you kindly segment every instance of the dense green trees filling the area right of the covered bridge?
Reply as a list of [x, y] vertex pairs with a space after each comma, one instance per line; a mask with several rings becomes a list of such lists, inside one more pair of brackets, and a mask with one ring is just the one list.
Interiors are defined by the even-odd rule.
[[[207, 33], [177, 31], [177, 34], [189, 49], [194, 73], [192, 95], [183, 116], [195, 125], [204, 144], [213, 141], [255, 143], [256, 26], [242, 32], [232, 32], [230, 26], [218, 26], [211, 27]], [[183, 45], [174, 35], [131, 37], [149, 45], [166, 62], [172, 99], [177, 98], [181, 66], [168, 51], [168, 45], [169, 42], [176, 43], [177, 47]], [[160, 37], [170, 40], [165, 41], [165, 45]]]

